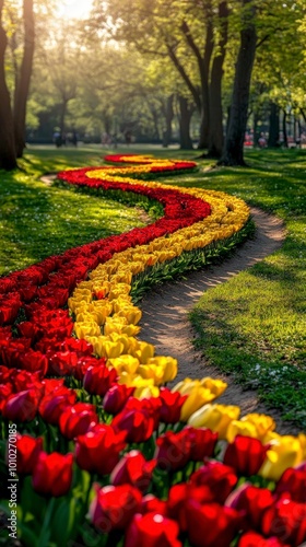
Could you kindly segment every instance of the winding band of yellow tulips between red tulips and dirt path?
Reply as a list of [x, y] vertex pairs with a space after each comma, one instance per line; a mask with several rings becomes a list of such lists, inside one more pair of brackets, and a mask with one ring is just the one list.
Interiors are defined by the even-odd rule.
[[[131, 156], [128, 160], [131, 161]], [[161, 163], [165, 164], [158, 162]], [[125, 182], [133, 185], [140, 184], [140, 181], [127, 178], [127, 174], [143, 173], [144, 170], [146, 165], [122, 167], [119, 172], [125, 175]], [[122, 182], [121, 176], [118, 176], [118, 168], [91, 171], [87, 176], [113, 183]], [[141, 184], [168, 188], [161, 183]], [[131, 302], [132, 277], [156, 263], [172, 260], [183, 252], [203, 248], [213, 241], [229, 237], [249, 218], [247, 205], [234, 196], [214, 190], [175, 188], [209, 202], [211, 216], [169, 236], [157, 237], [150, 244], [116, 253], [93, 270], [87, 281], [76, 287], [68, 302], [75, 316], [76, 337], [92, 344], [95, 354], [105, 357], [107, 365], [116, 369], [119, 383], [134, 386], [134, 395], [139, 398], [157, 397], [158, 387], [176, 377], [177, 361], [172, 357], [155, 356], [154, 346], [136, 338], [140, 331], [138, 323], [141, 311]], [[278, 479], [286, 467], [297, 465], [305, 458], [305, 435], [281, 437], [274, 431], [275, 423], [269, 416], [247, 415], [239, 419], [239, 407], [212, 404], [222, 395], [226, 385], [221, 380], [209, 377], [193, 381], [185, 379], [179, 382], [173, 391], [188, 395], [181, 408], [181, 421], [193, 427], [208, 427], [217, 431], [220, 439], [228, 442], [236, 434], [243, 434], [271, 443], [260, 472], [267, 478]]]

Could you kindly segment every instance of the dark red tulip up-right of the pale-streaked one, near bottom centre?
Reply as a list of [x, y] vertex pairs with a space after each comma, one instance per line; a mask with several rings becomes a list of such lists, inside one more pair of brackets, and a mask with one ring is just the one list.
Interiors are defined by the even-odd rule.
[[156, 444], [154, 457], [162, 469], [181, 469], [190, 459], [191, 441], [187, 429], [179, 433], [167, 431], [157, 439]]

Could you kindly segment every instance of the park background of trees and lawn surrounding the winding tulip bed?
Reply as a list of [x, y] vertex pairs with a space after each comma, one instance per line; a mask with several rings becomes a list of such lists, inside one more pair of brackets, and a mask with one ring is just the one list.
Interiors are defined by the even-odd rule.
[[0, 0], [0, 275], [141, 221], [46, 173], [111, 152], [195, 159], [163, 183], [233, 194], [286, 229], [202, 296], [197, 347], [305, 430], [304, 2], [94, 1], [81, 18], [66, 3]]

